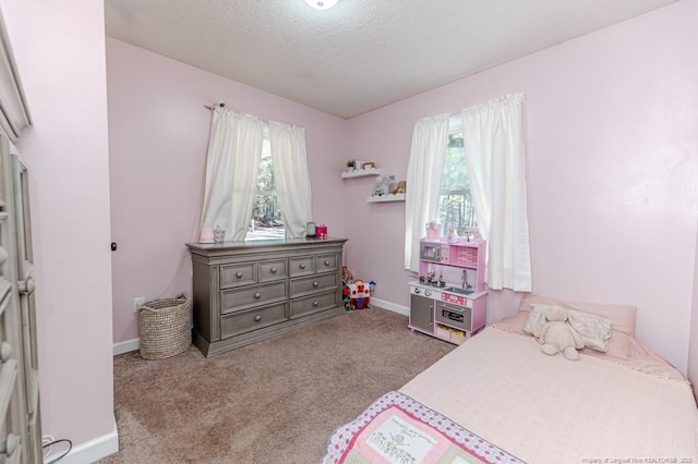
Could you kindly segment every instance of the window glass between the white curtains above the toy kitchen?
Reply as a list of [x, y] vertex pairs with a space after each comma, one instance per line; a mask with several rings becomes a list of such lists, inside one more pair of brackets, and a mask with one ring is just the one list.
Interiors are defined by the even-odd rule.
[[437, 222], [442, 224], [444, 235], [448, 234], [449, 229], [455, 229], [458, 236], [466, 236], [467, 229], [478, 225], [470, 195], [460, 118], [452, 118], [448, 124], [448, 148], [441, 183]]

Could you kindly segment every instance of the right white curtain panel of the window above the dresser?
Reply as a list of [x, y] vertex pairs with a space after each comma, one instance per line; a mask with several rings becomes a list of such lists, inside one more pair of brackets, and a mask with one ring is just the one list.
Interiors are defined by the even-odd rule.
[[274, 181], [287, 239], [303, 239], [313, 220], [305, 130], [269, 121]]

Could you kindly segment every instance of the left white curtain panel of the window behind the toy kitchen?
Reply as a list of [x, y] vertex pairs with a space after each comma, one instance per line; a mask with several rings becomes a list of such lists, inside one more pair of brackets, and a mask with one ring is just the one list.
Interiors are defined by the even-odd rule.
[[419, 239], [426, 232], [426, 222], [437, 219], [449, 118], [447, 113], [424, 118], [412, 132], [405, 196], [405, 269], [413, 272], [419, 271]]

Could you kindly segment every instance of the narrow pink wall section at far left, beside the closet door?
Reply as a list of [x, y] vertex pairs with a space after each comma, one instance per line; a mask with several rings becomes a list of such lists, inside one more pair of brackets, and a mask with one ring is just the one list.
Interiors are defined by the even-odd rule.
[[[29, 169], [44, 435], [113, 434], [104, 4], [1, 0], [34, 119]], [[76, 14], [79, 12], [79, 14]]]

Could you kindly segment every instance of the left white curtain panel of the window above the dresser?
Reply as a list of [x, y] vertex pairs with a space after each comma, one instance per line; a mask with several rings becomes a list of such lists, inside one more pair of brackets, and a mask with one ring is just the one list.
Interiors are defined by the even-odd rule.
[[264, 122], [251, 114], [216, 106], [210, 120], [206, 192], [201, 243], [213, 242], [213, 230], [226, 231], [226, 241], [243, 241], [256, 192]]

